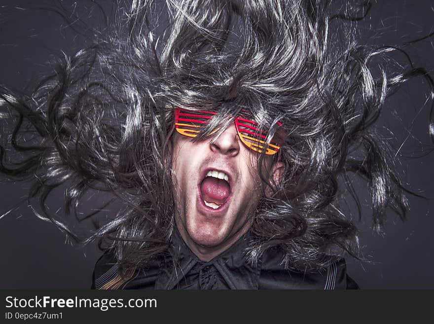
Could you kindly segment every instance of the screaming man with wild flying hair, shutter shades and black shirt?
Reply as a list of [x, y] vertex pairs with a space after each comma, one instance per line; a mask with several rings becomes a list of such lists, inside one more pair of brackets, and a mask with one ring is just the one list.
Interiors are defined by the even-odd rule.
[[371, 126], [389, 94], [425, 73], [374, 64], [397, 48], [358, 45], [354, 11], [133, 1], [128, 24], [31, 96], [1, 92], [23, 155], [1, 171], [36, 176], [35, 212], [77, 240], [45, 205], [54, 188], [66, 186], [75, 211], [90, 189], [123, 204], [85, 241], [106, 251], [94, 288], [355, 288], [343, 258], [360, 257], [357, 229], [342, 194], [357, 201], [350, 176], [367, 180], [377, 230], [387, 207], [405, 213]]

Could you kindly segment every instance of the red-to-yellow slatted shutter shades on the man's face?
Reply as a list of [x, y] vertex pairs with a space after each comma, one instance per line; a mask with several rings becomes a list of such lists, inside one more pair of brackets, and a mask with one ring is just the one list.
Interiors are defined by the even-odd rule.
[[[206, 110], [192, 111], [176, 108], [175, 129], [183, 136], [196, 137], [200, 132], [200, 128], [206, 125], [216, 114], [217, 112]], [[278, 122], [278, 125], [279, 127], [282, 126], [280, 122]], [[270, 141], [270, 144], [265, 143], [267, 132], [259, 129], [258, 124], [253, 120], [237, 116], [235, 117], [235, 127], [241, 142], [251, 150], [262, 153], [265, 149], [266, 155], [273, 155], [279, 151], [280, 145], [275, 138]]]

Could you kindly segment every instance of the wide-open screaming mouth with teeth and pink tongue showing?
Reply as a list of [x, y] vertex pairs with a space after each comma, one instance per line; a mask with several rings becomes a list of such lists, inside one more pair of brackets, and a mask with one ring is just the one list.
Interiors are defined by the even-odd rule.
[[230, 184], [227, 174], [217, 170], [210, 170], [199, 186], [205, 206], [218, 209], [230, 196]]

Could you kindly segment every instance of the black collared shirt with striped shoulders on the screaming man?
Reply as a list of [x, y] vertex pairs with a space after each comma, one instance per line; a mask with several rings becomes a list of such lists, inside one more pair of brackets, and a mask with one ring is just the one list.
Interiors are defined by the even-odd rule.
[[244, 257], [250, 232], [211, 261], [201, 261], [175, 228], [170, 258], [165, 266], [132, 271], [121, 276], [110, 252], [97, 261], [92, 288], [96, 289], [347, 289], [359, 288], [346, 273], [344, 259], [314, 274], [286, 270], [283, 254], [265, 252], [258, 264]]

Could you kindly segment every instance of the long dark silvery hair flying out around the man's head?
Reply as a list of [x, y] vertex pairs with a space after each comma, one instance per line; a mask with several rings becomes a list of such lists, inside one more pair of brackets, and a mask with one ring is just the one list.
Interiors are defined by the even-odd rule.
[[[317, 271], [348, 253], [360, 257], [357, 227], [341, 211], [340, 194], [358, 202], [351, 179], [361, 178], [376, 231], [387, 208], [405, 218], [409, 192], [374, 126], [388, 98], [411, 78], [427, 80], [432, 101], [433, 80], [413, 65], [405, 44], [357, 42], [355, 22], [369, 1], [333, 4], [133, 0], [108, 35], [65, 56], [32, 93], [0, 87], [0, 123], [12, 127], [2, 135], [0, 171], [32, 180], [36, 215], [73, 240], [100, 241], [124, 270], [146, 268], [167, 254], [174, 228], [174, 109], [217, 112], [194, 141], [218, 136], [246, 110], [269, 129], [268, 143], [278, 122], [284, 130], [274, 157], [284, 172], [271, 182], [261, 174], [271, 194], [252, 215], [248, 261], [279, 249], [288, 269]], [[257, 156], [261, 172], [265, 155]], [[47, 208], [61, 186], [68, 213], [89, 190], [108, 193], [107, 206], [123, 208], [81, 237], [66, 215]]]

